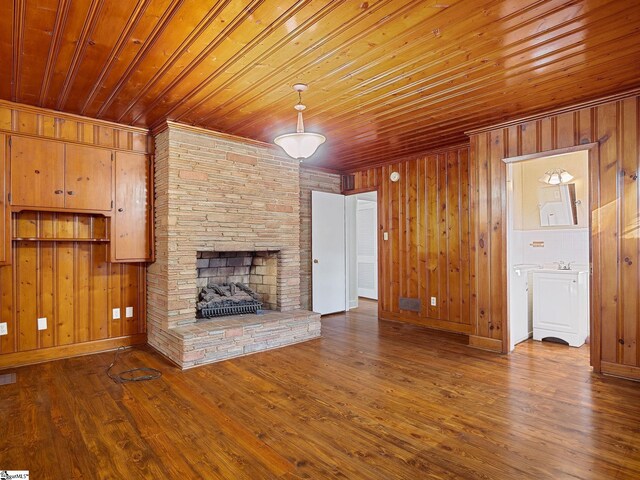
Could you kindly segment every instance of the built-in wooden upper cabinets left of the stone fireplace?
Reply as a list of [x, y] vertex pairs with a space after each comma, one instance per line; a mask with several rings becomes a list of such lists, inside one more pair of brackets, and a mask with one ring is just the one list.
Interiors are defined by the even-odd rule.
[[[2, 148], [6, 146], [5, 138]], [[98, 213], [111, 219], [112, 262], [153, 260], [148, 155], [23, 136], [13, 136], [9, 149], [2, 156], [9, 168], [2, 171], [10, 177], [10, 185], [4, 178], [0, 185], [7, 190], [0, 204], [7, 244], [11, 211]], [[0, 262], [9, 258], [9, 253], [0, 251]]]

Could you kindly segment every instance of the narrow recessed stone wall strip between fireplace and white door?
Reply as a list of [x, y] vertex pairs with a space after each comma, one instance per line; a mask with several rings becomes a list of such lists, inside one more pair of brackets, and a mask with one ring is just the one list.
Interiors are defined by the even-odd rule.
[[340, 175], [300, 168], [300, 306], [311, 310], [311, 192], [340, 193]]

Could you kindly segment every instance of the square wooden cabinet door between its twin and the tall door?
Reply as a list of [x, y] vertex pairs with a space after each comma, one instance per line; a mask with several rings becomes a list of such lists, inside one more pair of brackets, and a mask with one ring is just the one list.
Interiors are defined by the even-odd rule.
[[65, 208], [111, 210], [111, 151], [67, 145], [65, 153]]

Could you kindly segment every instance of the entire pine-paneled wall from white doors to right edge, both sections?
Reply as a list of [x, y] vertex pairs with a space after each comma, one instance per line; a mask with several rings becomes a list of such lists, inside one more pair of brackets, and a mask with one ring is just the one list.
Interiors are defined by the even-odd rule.
[[[592, 364], [640, 378], [640, 97], [472, 132], [471, 146], [354, 174], [378, 190], [381, 316], [508, 348], [505, 158], [589, 149]], [[397, 170], [401, 179], [389, 180]], [[420, 314], [398, 297], [418, 297]], [[436, 296], [438, 307], [429, 306]]]

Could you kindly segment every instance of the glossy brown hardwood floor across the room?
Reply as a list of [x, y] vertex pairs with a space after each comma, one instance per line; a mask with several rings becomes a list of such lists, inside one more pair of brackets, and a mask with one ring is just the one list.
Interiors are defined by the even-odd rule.
[[113, 353], [6, 370], [0, 469], [31, 478], [640, 477], [640, 384], [596, 376], [586, 349], [509, 356], [378, 322], [370, 302], [323, 337], [119, 385]]

